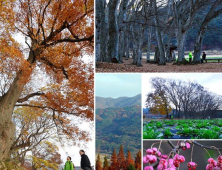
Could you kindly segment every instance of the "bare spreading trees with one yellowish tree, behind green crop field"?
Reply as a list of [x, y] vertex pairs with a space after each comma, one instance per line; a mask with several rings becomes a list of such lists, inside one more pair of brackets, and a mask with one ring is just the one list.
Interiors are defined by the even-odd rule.
[[154, 91], [147, 95], [150, 112], [169, 117], [174, 109], [178, 118], [207, 118], [222, 109], [222, 96], [194, 82], [155, 77], [150, 80]]

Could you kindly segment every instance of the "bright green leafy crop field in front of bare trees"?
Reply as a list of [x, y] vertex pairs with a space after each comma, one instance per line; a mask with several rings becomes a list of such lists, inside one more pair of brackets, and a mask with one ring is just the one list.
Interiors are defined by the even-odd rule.
[[[222, 119], [202, 120], [202, 119], [183, 119], [183, 120], [162, 120], [150, 121], [143, 127], [144, 139], [162, 139], [163, 134], [167, 138], [176, 134], [189, 136], [192, 139], [221, 139], [222, 138]], [[161, 125], [161, 126], [160, 126]], [[172, 126], [173, 125], [173, 126]], [[171, 127], [172, 126], [172, 127]]]

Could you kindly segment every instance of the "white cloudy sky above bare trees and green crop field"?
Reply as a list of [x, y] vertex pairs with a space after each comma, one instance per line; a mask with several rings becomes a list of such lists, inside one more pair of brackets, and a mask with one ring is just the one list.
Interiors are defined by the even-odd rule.
[[145, 107], [146, 94], [151, 89], [150, 78], [163, 77], [170, 79], [180, 79], [183, 81], [193, 81], [201, 84], [207, 90], [222, 95], [222, 73], [147, 73], [142, 75], [142, 103]]

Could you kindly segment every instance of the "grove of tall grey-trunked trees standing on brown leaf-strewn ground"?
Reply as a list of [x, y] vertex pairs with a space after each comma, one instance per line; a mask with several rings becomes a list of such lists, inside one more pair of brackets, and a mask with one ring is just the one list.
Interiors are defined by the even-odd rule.
[[177, 46], [178, 62], [183, 62], [188, 31], [196, 26], [194, 62], [200, 62], [209, 23], [221, 13], [222, 0], [96, 0], [96, 60], [121, 63], [131, 50], [133, 64], [140, 66], [143, 48], [149, 62], [154, 43], [156, 63], [175, 59], [172, 45]]

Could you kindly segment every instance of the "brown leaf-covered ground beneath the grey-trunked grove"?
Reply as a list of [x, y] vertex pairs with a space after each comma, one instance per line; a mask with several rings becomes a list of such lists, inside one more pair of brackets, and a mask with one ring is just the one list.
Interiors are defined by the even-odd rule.
[[222, 63], [204, 63], [197, 65], [173, 65], [167, 63], [163, 66], [146, 63], [142, 60], [141, 67], [132, 65], [133, 59], [124, 60], [122, 64], [96, 63], [96, 72], [222, 72]]

